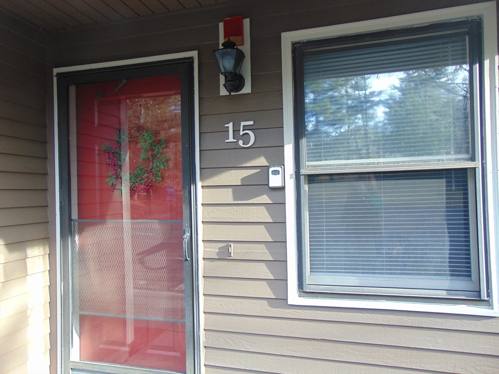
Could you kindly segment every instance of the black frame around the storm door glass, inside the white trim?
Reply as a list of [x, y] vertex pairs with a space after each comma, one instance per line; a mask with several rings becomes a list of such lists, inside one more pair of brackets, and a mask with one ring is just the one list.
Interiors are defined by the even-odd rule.
[[[126, 61], [122, 61], [126, 63]], [[69, 373], [70, 368], [82, 370], [81, 373], [167, 373], [164, 370], [142, 369], [131, 367], [70, 362], [72, 344], [71, 323], [71, 259], [72, 245], [71, 228], [71, 175], [69, 151], [69, 87], [76, 84], [103, 82], [112, 80], [142, 78], [150, 76], [180, 74], [181, 76], [181, 126], [182, 126], [182, 179], [184, 203], [184, 229], [191, 230], [189, 241], [189, 258], [184, 262], [184, 306], [186, 321], [186, 372], [196, 373], [201, 369], [201, 342], [200, 342], [200, 311], [199, 311], [199, 280], [197, 273], [197, 211], [196, 211], [196, 142], [195, 142], [195, 74], [194, 58], [179, 58], [158, 60], [153, 62], [116, 65], [104, 68], [85, 69], [60, 72], [55, 75], [57, 97], [57, 134], [59, 160], [59, 224], [60, 224], [60, 261], [61, 261], [61, 360], [62, 372]], [[119, 63], [119, 62], [117, 62]], [[116, 369], [116, 370], [114, 370]]]

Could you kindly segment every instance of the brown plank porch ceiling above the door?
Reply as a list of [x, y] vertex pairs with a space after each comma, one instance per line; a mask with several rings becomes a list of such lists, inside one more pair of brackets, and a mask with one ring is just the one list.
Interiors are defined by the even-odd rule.
[[0, 10], [49, 31], [193, 10], [224, 1], [228, 0], [0, 0]]

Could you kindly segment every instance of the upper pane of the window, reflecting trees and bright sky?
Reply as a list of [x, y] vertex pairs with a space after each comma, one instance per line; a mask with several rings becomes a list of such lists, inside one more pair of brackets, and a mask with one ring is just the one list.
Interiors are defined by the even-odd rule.
[[472, 160], [468, 60], [462, 33], [306, 50], [306, 167]]

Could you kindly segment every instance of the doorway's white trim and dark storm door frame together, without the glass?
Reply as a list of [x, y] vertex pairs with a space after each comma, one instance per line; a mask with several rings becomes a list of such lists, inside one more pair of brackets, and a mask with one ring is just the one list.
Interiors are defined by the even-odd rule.
[[[183, 198], [190, 200], [187, 210], [184, 205], [184, 228], [191, 229], [191, 254], [185, 266], [186, 283], [186, 373], [201, 372], [201, 313], [200, 313], [200, 238], [201, 212], [197, 208], [200, 198], [200, 152], [199, 152], [199, 97], [197, 51], [172, 55], [136, 58], [100, 64], [88, 64], [53, 69], [54, 75], [54, 139], [55, 139], [55, 229], [57, 256], [57, 367], [60, 373], [142, 374], [168, 373], [164, 370], [126, 367], [117, 364], [71, 362], [71, 181], [69, 141], [69, 87], [95, 81], [132, 79], [167, 74], [181, 76], [182, 105], [182, 158], [189, 158], [190, 167], [182, 171], [183, 180], [190, 180], [183, 187]], [[186, 134], [184, 131], [187, 129]], [[187, 217], [187, 218], [186, 218]], [[190, 300], [190, 301], [189, 301]], [[189, 305], [190, 304], [190, 305]], [[189, 338], [188, 338], [189, 337]], [[105, 370], [105, 372], [103, 372]], [[80, 372], [81, 371], [81, 372]], [[174, 373], [174, 372], [172, 372]]]

